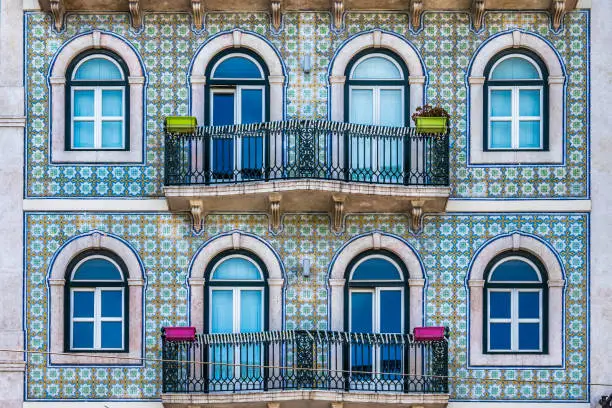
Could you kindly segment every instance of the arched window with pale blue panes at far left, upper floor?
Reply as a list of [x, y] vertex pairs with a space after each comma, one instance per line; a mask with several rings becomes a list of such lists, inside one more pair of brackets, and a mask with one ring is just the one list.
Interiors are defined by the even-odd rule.
[[79, 55], [66, 78], [66, 150], [129, 149], [127, 66], [110, 51]]

